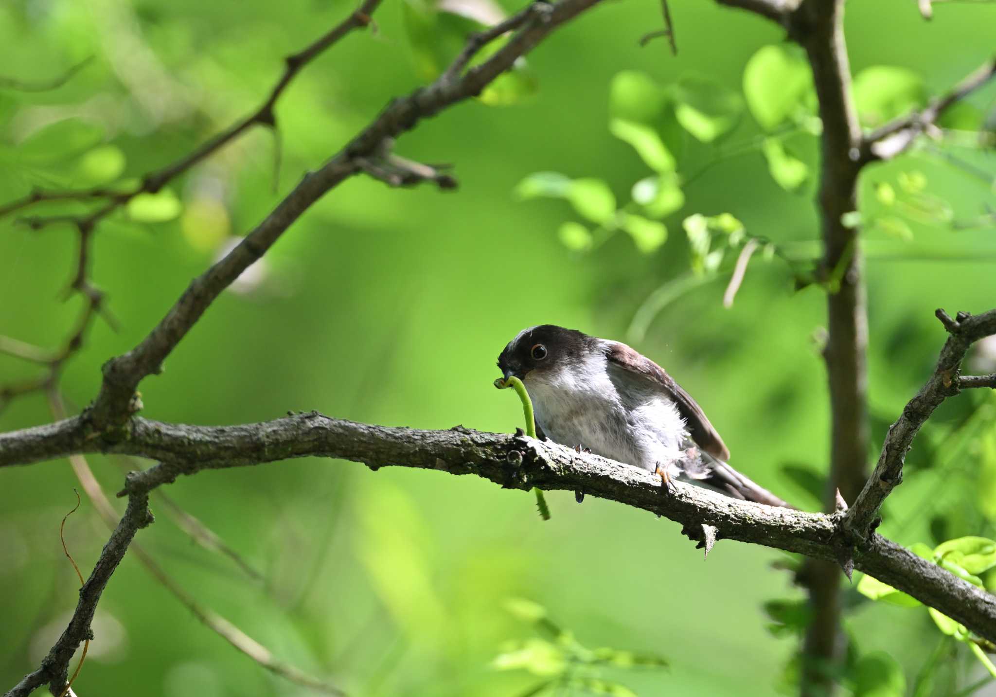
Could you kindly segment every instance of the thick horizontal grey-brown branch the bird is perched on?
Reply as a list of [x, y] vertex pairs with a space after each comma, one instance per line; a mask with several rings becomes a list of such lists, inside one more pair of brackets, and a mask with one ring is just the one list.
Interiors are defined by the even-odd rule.
[[[415, 467], [450, 474], [473, 474], [502, 487], [528, 491], [583, 491], [681, 523], [702, 542], [702, 526], [714, 527], [719, 540], [764, 545], [833, 561], [838, 549], [838, 519], [773, 508], [678, 484], [664, 495], [659, 478], [611, 460], [578, 453], [525, 436], [481, 433], [457, 427], [448, 431], [388, 428], [329, 418], [317, 412], [238, 426], [187, 426], [142, 418], [129, 421], [127, 437], [117, 442], [88, 437], [77, 417], [5, 434], [0, 464], [20, 464], [29, 453], [16, 443], [37, 442], [44, 432], [46, 450], [31, 459], [70, 452], [117, 452], [163, 460], [128, 475], [123, 494], [138, 499], [157, 486], [207, 469], [224, 469], [295, 457], [335, 457], [385, 466]], [[514, 451], [514, 454], [513, 454]], [[858, 569], [908, 592], [996, 640], [996, 597], [961, 581], [893, 543], [874, 535], [858, 551]]]

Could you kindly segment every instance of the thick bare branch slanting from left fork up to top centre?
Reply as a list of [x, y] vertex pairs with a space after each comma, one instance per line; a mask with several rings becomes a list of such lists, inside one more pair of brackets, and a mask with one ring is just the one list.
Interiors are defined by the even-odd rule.
[[439, 80], [392, 101], [373, 123], [317, 172], [304, 180], [224, 259], [194, 279], [166, 316], [134, 349], [104, 365], [104, 382], [88, 412], [96, 425], [105, 428], [124, 420], [138, 383], [157, 373], [163, 359], [175, 348], [207, 307], [253, 262], [277, 241], [313, 203], [343, 180], [361, 170], [358, 160], [380, 153], [383, 143], [410, 130], [422, 118], [475, 97], [495, 78], [512, 68], [554, 29], [589, 9], [600, 0], [563, 0], [556, 5], [534, 3], [529, 20], [487, 61], [466, 71], [459, 80]]

